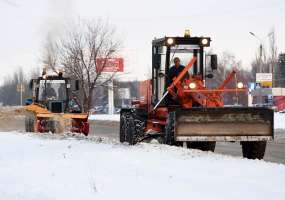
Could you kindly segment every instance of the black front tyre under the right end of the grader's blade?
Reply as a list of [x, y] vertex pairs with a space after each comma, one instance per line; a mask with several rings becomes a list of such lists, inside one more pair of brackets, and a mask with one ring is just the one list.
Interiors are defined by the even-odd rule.
[[263, 159], [266, 150], [266, 141], [241, 142], [242, 154], [248, 159]]

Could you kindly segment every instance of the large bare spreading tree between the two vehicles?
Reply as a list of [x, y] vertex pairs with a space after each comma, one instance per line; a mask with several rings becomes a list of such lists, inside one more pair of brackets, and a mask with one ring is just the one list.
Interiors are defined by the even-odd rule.
[[[119, 46], [115, 29], [102, 20], [78, 20], [61, 39], [58, 45], [60, 62], [67, 74], [80, 80], [85, 111], [92, 105], [95, 86], [102, 84], [100, 79], [104, 78], [107, 82], [113, 78], [114, 74], [104, 74], [103, 77], [102, 72], [107, 60], [118, 52]], [[100, 66], [98, 59], [103, 59]]]

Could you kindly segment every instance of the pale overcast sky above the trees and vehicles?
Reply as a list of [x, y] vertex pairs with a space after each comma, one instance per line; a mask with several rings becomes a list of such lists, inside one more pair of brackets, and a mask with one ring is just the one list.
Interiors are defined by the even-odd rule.
[[264, 37], [274, 27], [278, 50], [285, 51], [284, 10], [284, 0], [0, 0], [0, 78], [19, 66], [41, 66], [46, 35], [60, 34], [61, 25], [78, 16], [108, 19], [116, 27], [135, 60], [126, 63], [134, 76], [147, 73], [154, 37], [189, 28], [210, 36], [216, 53], [230, 51], [248, 67], [259, 45], [249, 31]]

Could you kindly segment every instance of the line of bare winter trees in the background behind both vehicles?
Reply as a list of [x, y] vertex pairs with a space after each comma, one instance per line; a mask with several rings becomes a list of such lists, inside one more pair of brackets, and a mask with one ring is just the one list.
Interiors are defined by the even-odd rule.
[[[218, 70], [213, 72], [214, 78], [208, 81], [208, 86], [217, 87], [233, 68], [238, 70], [237, 79], [244, 83], [255, 82], [256, 72], [279, 73], [276, 35], [274, 30], [271, 32], [268, 50], [263, 48], [262, 53], [257, 51], [251, 69], [245, 69], [241, 60], [230, 52], [219, 55]], [[78, 19], [66, 26], [61, 37], [55, 38], [52, 35], [46, 37], [42, 51], [42, 64], [46, 69], [54, 72], [58, 72], [60, 68], [66, 76], [80, 80], [80, 99], [84, 111], [88, 111], [96, 100], [94, 88], [106, 85], [115, 75], [115, 73], [108, 75], [103, 73], [106, 62], [99, 68], [96, 61], [98, 58], [107, 61], [108, 58], [116, 57], [120, 47], [121, 41], [117, 37], [115, 28], [107, 21]], [[19, 68], [13, 75], [7, 76], [0, 86], [0, 102], [3, 105], [24, 104], [20, 102], [20, 92], [17, 91], [17, 87], [19, 84], [24, 85], [23, 99], [31, 97], [28, 89], [29, 81], [33, 76], [35, 78], [40, 74], [39, 68], [26, 74], [22, 68]], [[235, 87], [234, 84], [230, 83], [229, 86]], [[224, 98], [225, 104], [247, 104], [247, 98], [236, 99], [233, 94], [227, 94]]]

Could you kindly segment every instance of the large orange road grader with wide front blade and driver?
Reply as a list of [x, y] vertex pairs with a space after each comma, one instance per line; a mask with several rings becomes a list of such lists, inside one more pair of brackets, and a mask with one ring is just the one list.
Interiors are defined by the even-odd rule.
[[[248, 90], [237, 80], [235, 70], [217, 88], [207, 87], [218, 65], [217, 55], [204, 53], [210, 42], [209, 37], [189, 35], [152, 41], [148, 98], [121, 110], [120, 142], [133, 145], [156, 138], [164, 144], [204, 151], [214, 151], [217, 141], [240, 142], [244, 157], [263, 158], [266, 142], [273, 139], [273, 110], [224, 106], [223, 94], [238, 99]], [[211, 70], [204, 63], [208, 56]], [[178, 64], [171, 71], [172, 58]], [[190, 62], [183, 68], [180, 60]]]

